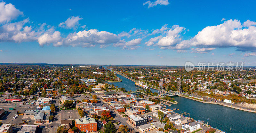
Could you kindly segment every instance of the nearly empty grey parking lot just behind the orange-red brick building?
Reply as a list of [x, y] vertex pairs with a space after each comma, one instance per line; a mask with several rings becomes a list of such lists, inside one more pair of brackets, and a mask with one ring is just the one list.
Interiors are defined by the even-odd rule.
[[78, 111], [75, 110], [61, 110], [60, 111], [60, 120], [74, 120], [81, 118], [78, 114]]

